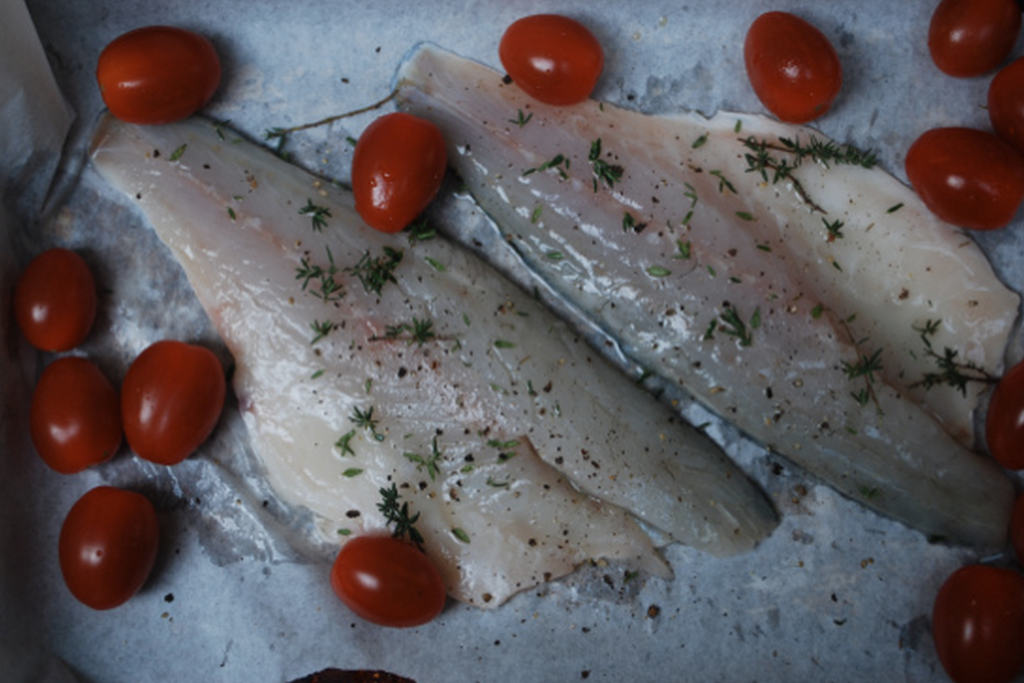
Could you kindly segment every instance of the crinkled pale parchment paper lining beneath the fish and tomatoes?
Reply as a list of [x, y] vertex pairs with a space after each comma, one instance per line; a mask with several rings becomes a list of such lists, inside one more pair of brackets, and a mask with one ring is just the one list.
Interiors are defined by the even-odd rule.
[[[86, 683], [283, 683], [325, 667], [385, 669], [420, 683], [943, 680], [929, 631], [938, 586], [965, 562], [1009, 558], [978, 558], [967, 549], [929, 544], [717, 421], [709, 433], [762, 483], [782, 516], [756, 552], [722, 560], [672, 546], [666, 549], [676, 571], [672, 582], [629, 582], [597, 565], [495, 611], [452, 604], [420, 629], [368, 625], [331, 593], [331, 549], [310, 540], [301, 511], [284, 508], [266, 489], [231, 404], [212, 440], [175, 468], [147, 466], [123, 450], [80, 475], [47, 470], [32, 452], [26, 416], [31, 385], [50, 356], [27, 348], [8, 310], [13, 276], [26, 260], [49, 246], [71, 247], [93, 267], [101, 301], [96, 328], [77, 352], [96, 359], [112, 379], [120, 381], [130, 359], [161, 338], [207, 344], [230, 364], [144, 220], [83, 163], [101, 110], [96, 56], [110, 40], [138, 26], [172, 24], [209, 36], [222, 56], [224, 81], [207, 114], [262, 138], [269, 128], [377, 101], [390, 90], [402, 55], [419, 41], [499, 66], [504, 28], [541, 11], [566, 13], [595, 31], [606, 50], [595, 92], [600, 99], [649, 113], [761, 112], [742, 68], [742, 37], [759, 13], [788, 9], [817, 25], [843, 60], [843, 94], [818, 127], [839, 141], [873, 148], [883, 166], [903, 177], [903, 156], [921, 132], [940, 125], [987, 127], [988, 78], [944, 77], [928, 57], [933, 5], [29, 0], [46, 59], [77, 117], [46, 204], [50, 210], [44, 210], [41, 194], [17, 193], [25, 198], [11, 205], [18, 220], [0, 227], [4, 680], [58, 681], [67, 672], [53, 656]], [[18, 6], [0, 3], [4, 22]], [[15, 35], [8, 26], [0, 30], [4, 74], [19, 63], [6, 51], [13, 45], [7, 34]], [[1015, 55], [1020, 52], [1018, 45]], [[35, 77], [28, 83], [26, 93], [43, 87]], [[351, 159], [346, 138], [357, 137], [376, 115], [292, 135], [284, 152], [345, 181]], [[19, 135], [26, 121], [0, 120], [0, 139], [25, 139]], [[29, 174], [44, 190], [59, 150], [54, 140], [63, 139], [59, 127], [52, 131], [55, 137], [28, 146], [42, 150], [51, 163]], [[24, 180], [23, 167], [4, 169], [18, 171]], [[450, 189], [433, 213], [441, 227], [485, 251], [499, 249], [471, 201]], [[1018, 292], [1024, 290], [1022, 222], [975, 236]], [[1011, 355], [1020, 357], [1019, 341]], [[684, 411], [695, 422], [711, 420], [697, 408]], [[146, 587], [108, 612], [75, 602], [56, 562], [65, 513], [98, 483], [147, 494], [163, 533]]]

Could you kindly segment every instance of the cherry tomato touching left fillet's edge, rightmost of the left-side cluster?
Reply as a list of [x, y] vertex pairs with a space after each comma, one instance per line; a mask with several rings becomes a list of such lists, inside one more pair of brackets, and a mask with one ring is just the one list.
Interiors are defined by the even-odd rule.
[[121, 385], [128, 445], [154, 463], [181, 462], [213, 431], [225, 394], [224, 370], [213, 351], [171, 340], [151, 345]]

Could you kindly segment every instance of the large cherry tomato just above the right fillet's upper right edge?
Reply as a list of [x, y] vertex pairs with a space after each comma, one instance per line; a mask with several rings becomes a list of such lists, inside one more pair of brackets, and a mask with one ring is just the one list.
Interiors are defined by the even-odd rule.
[[1024, 200], [1024, 156], [985, 131], [932, 129], [910, 145], [905, 168], [928, 208], [961, 227], [1002, 227]]

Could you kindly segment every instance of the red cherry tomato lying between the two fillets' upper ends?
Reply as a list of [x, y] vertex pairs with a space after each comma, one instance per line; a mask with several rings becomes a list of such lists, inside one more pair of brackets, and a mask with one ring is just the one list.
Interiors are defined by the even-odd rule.
[[371, 227], [397, 232], [433, 201], [446, 164], [434, 124], [400, 112], [377, 119], [352, 153], [355, 210]]

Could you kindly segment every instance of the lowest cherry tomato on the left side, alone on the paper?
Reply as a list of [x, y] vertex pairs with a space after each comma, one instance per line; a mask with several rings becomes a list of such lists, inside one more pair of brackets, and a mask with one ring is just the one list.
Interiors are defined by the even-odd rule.
[[145, 584], [159, 546], [157, 511], [144, 496], [98, 486], [80, 498], [65, 519], [60, 571], [79, 602], [112, 609]]

